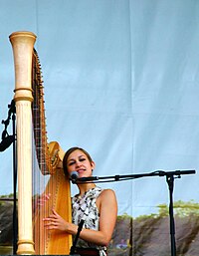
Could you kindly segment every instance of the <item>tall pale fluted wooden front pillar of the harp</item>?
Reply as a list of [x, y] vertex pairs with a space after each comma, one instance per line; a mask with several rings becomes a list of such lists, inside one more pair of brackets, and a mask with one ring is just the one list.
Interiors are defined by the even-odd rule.
[[32, 56], [36, 36], [21, 31], [10, 35], [15, 66], [18, 170], [18, 250], [35, 254], [32, 226]]

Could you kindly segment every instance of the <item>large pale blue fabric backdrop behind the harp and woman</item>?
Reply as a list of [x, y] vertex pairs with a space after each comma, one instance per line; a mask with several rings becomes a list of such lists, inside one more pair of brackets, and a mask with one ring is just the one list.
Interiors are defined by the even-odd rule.
[[[85, 147], [98, 176], [197, 171], [198, 13], [197, 0], [0, 0], [0, 119], [14, 96], [8, 37], [31, 31], [49, 141]], [[12, 193], [12, 148], [0, 159], [0, 194]], [[197, 173], [176, 179], [174, 199], [198, 201], [198, 181]], [[116, 191], [119, 214], [168, 202], [164, 177], [101, 186]]]

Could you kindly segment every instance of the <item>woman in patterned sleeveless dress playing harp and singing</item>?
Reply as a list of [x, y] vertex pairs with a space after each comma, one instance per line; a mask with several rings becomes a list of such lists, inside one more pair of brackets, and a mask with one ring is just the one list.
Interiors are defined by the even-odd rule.
[[[93, 175], [95, 162], [83, 148], [72, 147], [64, 156], [63, 165], [66, 175], [77, 171], [79, 178]], [[46, 226], [59, 229], [76, 236], [81, 220], [84, 227], [77, 244], [77, 254], [106, 255], [106, 246], [116, 222], [117, 203], [113, 190], [101, 189], [94, 182], [77, 183], [79, 194], [72, 198], [73, 223], [67, 222], [55, 210]]]

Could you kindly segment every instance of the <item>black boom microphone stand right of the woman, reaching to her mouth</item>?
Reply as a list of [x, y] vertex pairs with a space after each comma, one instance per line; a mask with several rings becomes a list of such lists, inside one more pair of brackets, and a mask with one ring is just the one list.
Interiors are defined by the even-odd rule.
[[[112, 182], [112, 181], [122, 181], [135, 179], [146, 176], [166, 176], [166, 181], [169, 188], [169, 219], [170, 219], [170, 242], [171, 242], [171, 256], [176, 256], [176, 243], [175, 243], [175, 223], [173, 215], [173, 187], [174, 187], [174, 176], [180, 178], [183, 174], [195, 174], [195, 170], [174, 170], [174, 171], [164, 171], [156, 170], [149, 173], [140, 173], [140, 174], [127, 174], [127, 175], [114, 175], [114, 176], [91, 176], [91, 177], [82, 177], [77, 178], [76, 183], [89, 183], [97, 180], [96, 183], [100, 182]], [[99, 180], [104, 181], [99, 181]]]

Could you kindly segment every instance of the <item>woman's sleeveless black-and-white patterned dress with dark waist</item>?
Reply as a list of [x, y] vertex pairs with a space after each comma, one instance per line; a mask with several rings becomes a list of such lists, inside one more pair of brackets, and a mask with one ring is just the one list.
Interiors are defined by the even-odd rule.
[[[72, 198], [72, 220], [74, 224], [79, 225], [83, 219], [85, 221], [84, 228], [99, 230], [100, 212], [96, 201], [101, 191], [102, 188], [96, 186], [89, 189], [83, 196], [75, 195]], [[100, 256], [106, 256], [106, 247], [87, 242], [81, 238], [78, 239], [77, 247], [96, 248], [100, 250]]]

